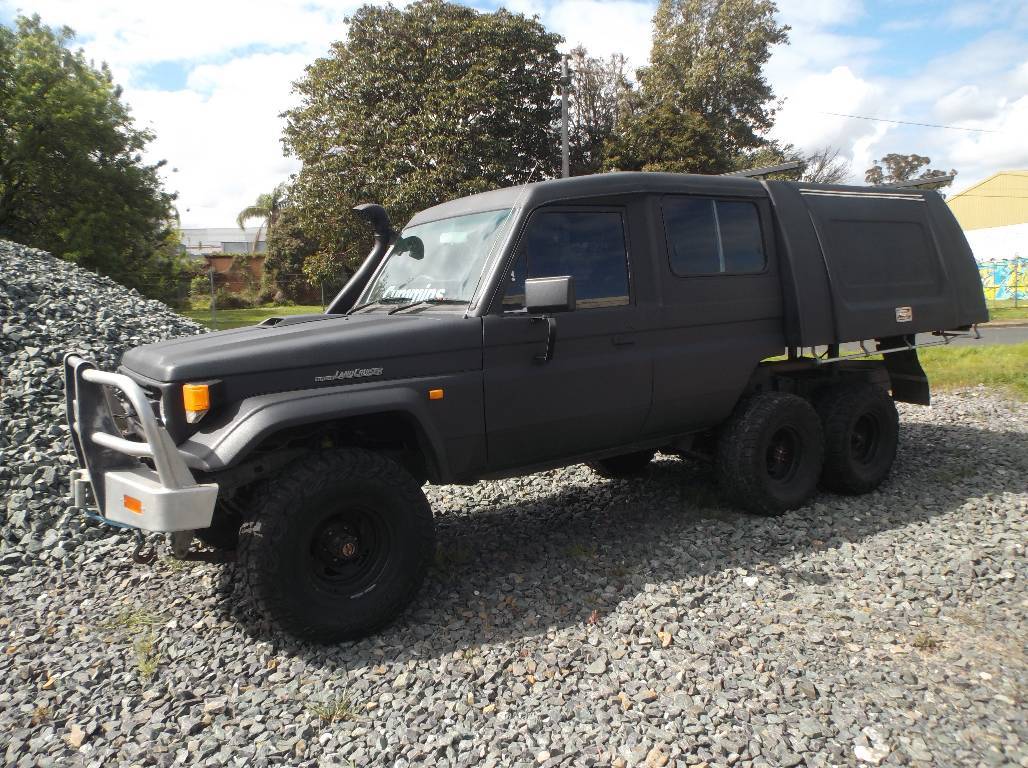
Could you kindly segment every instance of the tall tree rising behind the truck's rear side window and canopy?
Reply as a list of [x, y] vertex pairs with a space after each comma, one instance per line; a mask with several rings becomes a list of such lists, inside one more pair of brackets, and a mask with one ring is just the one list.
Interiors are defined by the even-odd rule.
[[[774, 122], [774, 93], [764, 76], [771, 48], [788, 40], [772, 0], [660, 0], [649, 66], [626, 119], [629, 144], [645, 149], [622, 162], [651, 170], [722, 173], [759, 147]], [[650, 135], [681, 125], [686, 138]], [[695, 154], [689, 154], [695, 152]]]

